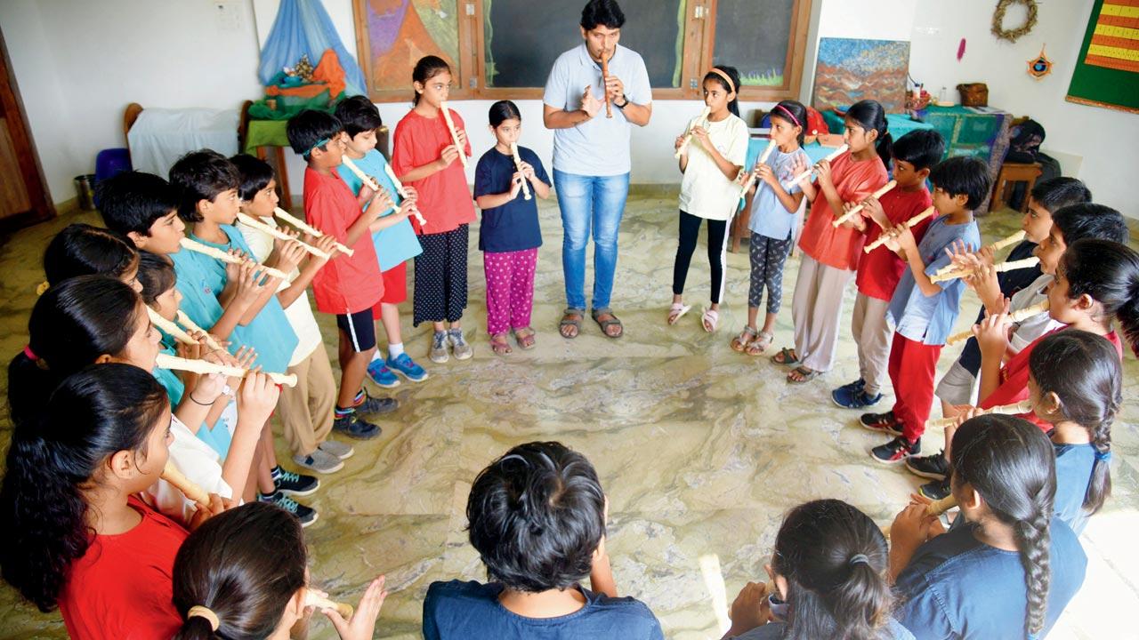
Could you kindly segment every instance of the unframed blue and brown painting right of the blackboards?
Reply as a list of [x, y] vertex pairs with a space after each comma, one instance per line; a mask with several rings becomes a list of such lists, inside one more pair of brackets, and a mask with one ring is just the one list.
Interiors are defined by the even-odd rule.
[[909, 66], [910, 43], [906, 41], [822, 38], [812, 106], [825, 110], [874, 99], [886, 113], [902, 113]]

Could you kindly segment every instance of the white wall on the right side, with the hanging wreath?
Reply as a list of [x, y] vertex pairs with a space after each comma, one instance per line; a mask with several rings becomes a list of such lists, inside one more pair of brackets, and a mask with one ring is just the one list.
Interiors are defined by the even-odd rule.
[[[1139, 208], [1123, 177], [1139, 166], [1139, 115], [1076, 105], [1064, 100], [1080, 52], [1092, 0], [1039, 2], [1035, 28], [1016, 43], [989, 32], [991, 0], [823, 0], [816, 2], [804, 73], [803, 97], [810, 98], [819, 38], [871, 38], [910, 41], [910, 75], [936, 96], [961, 82], [989, 85], [989, 104], [1014, 115], [1029, 115], [1047, 131], [1043, 150], [1062, 162], [1064, 173], [1080, 178], [1097, 202], [1129, 216]], [[1010, 8], [1006, 26], [1023, 22], [1023, 9]], [[957, 46], [966, 52], [957, 61]], [[1027, 61], [1047, 43], [1052, 74], [1041, 81], [1027, 74]]]

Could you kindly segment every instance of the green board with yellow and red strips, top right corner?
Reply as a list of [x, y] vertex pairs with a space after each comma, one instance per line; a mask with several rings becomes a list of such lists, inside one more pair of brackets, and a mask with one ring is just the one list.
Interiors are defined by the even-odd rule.
[[1139, 2], [1096, 0], [1067, 101], [1139, 113]]

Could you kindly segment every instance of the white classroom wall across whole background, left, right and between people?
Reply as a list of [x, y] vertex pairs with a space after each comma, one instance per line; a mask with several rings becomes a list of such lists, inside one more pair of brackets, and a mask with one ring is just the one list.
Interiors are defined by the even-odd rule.
[[[352, 0], [323, 3], [354, 52]], [[125, 143], [121, 122], [128, 102], [216, 108], [237, 107], [261, 96], [257, 54], [278, 5], [279, 0], [0, 2], [0, 28], [52, 199], [74, 197], [72, 178], [93, 170], [99, 149]], [[991, 0], [814, 0], [812, 5], [804, 101], [810, 98], [819, 38], [910, 40], [911, 74], [932, 92], [958, 82], [986, 82], [991, 105], [1031, 115], [1044, 125], [1044, 149], [1062, 158], [1067, 172], [1084, 179], [1097, 200], [1139, 216], [1121, 180], [1139, 166], [1139, 147], [1124, 142], [1139, 139], [1139, 116], [1064, 101], [1092, 0], [1041, 2], [1036, 28], [1017, 44], [989, 33]], [[1008, 23], [1016, 17], [1009, 10]], [[968, 47], [958, 63], [961, 36]], [[1056, 71], [1038, 82], [1024, 69], [1043, 42]], [[468, 123], [476, 154], [492, 145], [483, 125], [489, 106], [485, 100], [453, 102]], [[526, 146], [548, 161], [552, 133], [541, 125], [541, 102], [518, 100], [518, 106]], [[744, 104], [741, 110], [759, 107], [770, 105]], [[390, 126], [408, 108], [407, 102], [379, 105]], [[652, 123], [633, 133], [634, 182], [679, 181], [670, 141], [698, 112], [695, 100], [654, 105]], [[289, 166], [293, 190], [300, 191], [300, 159], [292, 157]]]

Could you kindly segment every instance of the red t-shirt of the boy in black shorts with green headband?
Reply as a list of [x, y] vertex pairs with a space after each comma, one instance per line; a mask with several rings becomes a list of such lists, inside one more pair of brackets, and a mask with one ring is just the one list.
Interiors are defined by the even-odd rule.
[[[360, 215], [352, 189], [337, 172], [323, 175], [312, 167], [304, 170], [304, 216], [309, 224], [346, 244], [349, 227]], [[384, 297], [371, 233], [360, 233], [350, 248], [352, 255], [336, 254], [312, 278], [312, 296], [322, 313], [355, 313], [371, 309]]]

